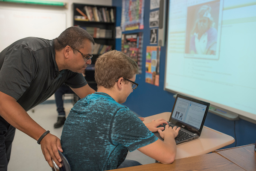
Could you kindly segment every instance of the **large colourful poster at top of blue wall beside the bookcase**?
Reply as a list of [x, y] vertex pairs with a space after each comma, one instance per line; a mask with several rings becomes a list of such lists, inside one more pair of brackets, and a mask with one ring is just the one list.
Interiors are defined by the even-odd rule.
[[144, 0], [122, 0], [122, 31], [144, 29]]

